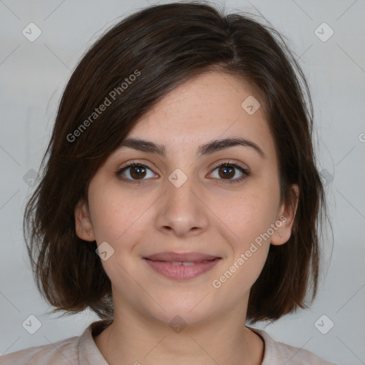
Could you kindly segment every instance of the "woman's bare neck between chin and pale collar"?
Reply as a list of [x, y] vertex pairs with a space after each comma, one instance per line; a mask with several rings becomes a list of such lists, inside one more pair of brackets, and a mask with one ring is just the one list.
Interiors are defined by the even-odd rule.
[[178, 327], [135, 311], [119, 310], [115, 311], [113, 323], [94, 341], [109, 365], [260, 365], [264, 344], [245, 327], [243, 314], [237, 309], [199, 324]]

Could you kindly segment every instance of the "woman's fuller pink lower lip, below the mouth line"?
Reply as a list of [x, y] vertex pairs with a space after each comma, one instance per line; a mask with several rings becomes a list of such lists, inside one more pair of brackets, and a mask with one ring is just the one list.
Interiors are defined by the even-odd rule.
[[150, 267], [152, 267], [156, 272], [165, 275], [165, 277], [170, 277], [170, 279], [192, 279], [200, 274], [212, 269], [212, 267], [220, 261], [220, 259], [213, 259], [209, 262], [199, 262], [191, 266], [173, 265], [171, 262], [165, 261], [152, 261], [150, 259], [144, 259]]

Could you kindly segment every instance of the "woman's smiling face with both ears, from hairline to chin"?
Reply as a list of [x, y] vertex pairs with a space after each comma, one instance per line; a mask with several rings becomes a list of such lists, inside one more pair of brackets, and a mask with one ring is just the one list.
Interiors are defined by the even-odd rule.
[[[197, 323], [242, 311], [270, 243], [289, 240], [293, 213], [280, 202], [274, 140], [263, 106], [243, 103], [249, 96], [259, 101], [225, 73], [190, 79], [128, 134], [164, 153], [122, 146], [93, 176], [76, 232], [104, 252], [115, 313]], [[233, 138], [246, 143], [200, 147]]]

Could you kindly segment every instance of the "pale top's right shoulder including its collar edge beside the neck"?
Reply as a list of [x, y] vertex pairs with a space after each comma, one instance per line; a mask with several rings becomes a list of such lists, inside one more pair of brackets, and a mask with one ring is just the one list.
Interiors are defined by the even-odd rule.
[[[262, 361], [262, 365], [284, 363], [287, 365], [336, 365], [321, 359], [319, 356], [306, 349], [300, 349], [299, 347], [274, 341], [267, 332], [261, 329], [248, 328], [261, 336], [264, 341], [264, 360]], [[284, 363], [282, 361], [284, 361]]]

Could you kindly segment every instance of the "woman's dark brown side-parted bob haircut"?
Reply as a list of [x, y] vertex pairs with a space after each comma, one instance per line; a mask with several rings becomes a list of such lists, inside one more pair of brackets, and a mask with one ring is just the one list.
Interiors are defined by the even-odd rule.
[[312, 100], [286, 41], [254, 18], [201, 1], [149, 6], [106, 31], [78, 63], [24, 212], [34, 279], [56, 307], [51, 312], [91, 309], [101, 319], [113, 318], [110, 279], [96, 242], [76, 235], [75, 207], [88, 202], [91, 178], [138, 119], [181, 83], [212, 70], [258, 91], [277, 151], [281, 201], [294, 207], [290, 185], [299, 186], [292, 235], [284, 245], [270, 245], [250, 290], [247, 320], [273, 322], [307, 308], [310, 292], [313, 301], [319, 218], [323, 212], [327, 217], [327, 208], [312, 145]]

